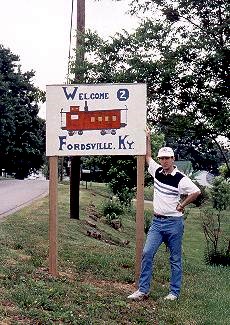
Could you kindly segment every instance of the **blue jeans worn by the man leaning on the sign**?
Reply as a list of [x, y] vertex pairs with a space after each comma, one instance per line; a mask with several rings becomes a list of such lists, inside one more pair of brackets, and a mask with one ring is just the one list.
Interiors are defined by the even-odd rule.
[[184, 232], [183, 217], [167, 219], [154, 218], [149, 228], [141, 263], [139, 290], [148, 293], [153, 272], [154, 256], [165, 242], [170, 251], [170, 293], [179, 296], [182, 282], [182, 238]]

